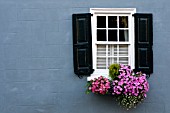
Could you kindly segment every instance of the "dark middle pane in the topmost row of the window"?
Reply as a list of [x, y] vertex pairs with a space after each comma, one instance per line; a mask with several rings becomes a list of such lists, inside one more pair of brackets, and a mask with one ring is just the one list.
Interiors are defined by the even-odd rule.
[[117, 28], [117, 16], [108, 16], [108, 27]]

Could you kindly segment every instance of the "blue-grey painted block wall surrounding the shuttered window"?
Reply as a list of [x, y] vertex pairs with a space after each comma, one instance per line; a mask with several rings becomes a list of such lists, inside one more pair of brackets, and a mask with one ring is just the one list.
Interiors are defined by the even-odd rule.
[[[0, 113], [169, 113], [169, 0], [0, 0]], [[126, 111], [85, 94], [73, 73], [72, 14], [90, 8], [153, 13], [154, 73], [144, 103]]]

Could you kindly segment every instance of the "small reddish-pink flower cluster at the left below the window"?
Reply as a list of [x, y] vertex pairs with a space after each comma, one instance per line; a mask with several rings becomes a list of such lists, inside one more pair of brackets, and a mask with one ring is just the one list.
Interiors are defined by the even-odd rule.
[[96, 94], [107, 94], [110, 89], [110, 81], [109, 79], [100, 76], [97, 79], [91, 80], [88, 84], [87, 93], [93, 92]]

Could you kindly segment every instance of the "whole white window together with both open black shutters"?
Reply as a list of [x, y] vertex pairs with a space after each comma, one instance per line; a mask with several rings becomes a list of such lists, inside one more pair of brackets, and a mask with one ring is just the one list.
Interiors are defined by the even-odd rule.
[[112, 63], [153, 72], [152, 14], [135, 8], [91, 8], [73, 14], [74, 72], [88, 80], [108, 76]]

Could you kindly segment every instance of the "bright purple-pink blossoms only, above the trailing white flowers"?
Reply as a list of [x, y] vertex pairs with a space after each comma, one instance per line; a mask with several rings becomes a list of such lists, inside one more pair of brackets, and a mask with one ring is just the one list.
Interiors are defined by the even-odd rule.
[[118, 80], [113, 80], [113, 95], [132, 95], [139, 96], [149, 91], [149, 84], [146, 80], [146, 74], [136, 73], [132, 75], [130, 66], [120, 65], [120, 75]]

